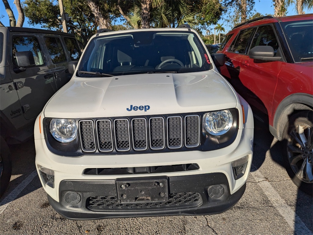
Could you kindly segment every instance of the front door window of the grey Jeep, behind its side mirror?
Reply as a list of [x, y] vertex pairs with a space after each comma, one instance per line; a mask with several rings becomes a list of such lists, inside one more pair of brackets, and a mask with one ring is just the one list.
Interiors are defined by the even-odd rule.
[[12, 60], [17, 65], [15, 53], [18, 51], [31, 51], [35, 65], [43, 65], [44, 57], [36, 37], [13, 37]]

